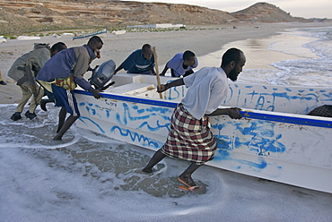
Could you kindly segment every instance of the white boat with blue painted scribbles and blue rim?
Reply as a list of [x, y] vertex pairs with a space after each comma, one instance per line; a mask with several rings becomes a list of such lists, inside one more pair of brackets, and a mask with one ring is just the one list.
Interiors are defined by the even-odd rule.
[[[161, 76], [165, 84], [175, 80]], [[160, 149], [184, 86], [156, 92], [155, 76], [121, 74], [95, 99], [74, 90], [80, 128], [146, 149]], [[332, 89], [230, 82], [222, 107], [240, 107], [242, 119], [210, 117], [218, 149], [206, 163], [244, 175], [332, 193], [332, 118], [307, 115], [332, 105]]]

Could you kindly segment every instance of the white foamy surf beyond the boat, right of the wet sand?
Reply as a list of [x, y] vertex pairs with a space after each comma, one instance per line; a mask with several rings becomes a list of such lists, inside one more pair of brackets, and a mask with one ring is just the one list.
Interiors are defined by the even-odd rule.
[[[316, 29], [291, 30], [290, 35], [317, 38], [303, 44], [317, 57], [295, 60], [283, 60], [274, 64], [278, 69], [272, 83], [300, 85], [300, 86], [332, 86], [332, 27]], [[278, 50], [273, 45], [269, 50]], [[291, 48], [280, 49], [284, 54]]]

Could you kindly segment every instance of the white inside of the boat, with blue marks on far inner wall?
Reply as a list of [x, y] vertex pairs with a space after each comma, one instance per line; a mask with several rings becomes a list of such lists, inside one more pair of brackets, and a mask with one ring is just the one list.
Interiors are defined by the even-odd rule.
[[[165, 84], [177, 78], [160, 76]], [[115, 84], [105, 93], [160, 99], [156, 92], [156, 76], [118, 73], [112, 77]], [[185, 86], [179, 86], [162, 93], [161, 99], [180, 101], [186, 95]], [[230, 97], [225, 107], [241, 107], [268, 112], [307, 115], [310, 110], [323, 105], [332, 105], [332, 89], [299, 86], [259, 85], [230, 81]]]

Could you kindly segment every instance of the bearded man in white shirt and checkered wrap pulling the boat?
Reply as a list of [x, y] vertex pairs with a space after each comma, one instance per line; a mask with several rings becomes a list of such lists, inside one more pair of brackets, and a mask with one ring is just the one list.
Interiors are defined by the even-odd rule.
[[158, 88], [158, 92], [170, 87], [186, 85], [188, 92], [175, 108], [170, 121], [167, 141], [157, 150], [153, 158], [144, 167], [145, 173], [152, 173], [153, 166], [166, 156], [191, 162], [179, 175], [179, 189], [195, 191], [191, 175], [199, 166], [214, 158], [217, 149], [214, 135], [209, 128], [209, 115], [229, 115], [240, 119], [240, 108], [218, 108], [228, 95], [228, 80], [236, 81], [246, 63], [246, 57], [240, 49], [230, 48], [223, 54], [221, 67], [205, 67], [187, 77], [171, 81]]

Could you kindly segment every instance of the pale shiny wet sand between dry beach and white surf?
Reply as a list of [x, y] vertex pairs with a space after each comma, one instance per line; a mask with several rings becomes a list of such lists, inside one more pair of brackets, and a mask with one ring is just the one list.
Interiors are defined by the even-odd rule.
[[[215, 66], [221, 61], [223, 52], [228, 48], [238, 47], [247, 58], [243, 70], [278, 70], [272, 65], [275, 62], [319, 57], [309, 48], [302, 47], [318, 39], [293, 35], [291, 31], [266, 38], [247, 38], [229, 42], [218, 51], [199, 56], [199, 61], [204, 61], [201, 63], [203, 66]], [[289, 51], [291, 48], [292, 52]]]

